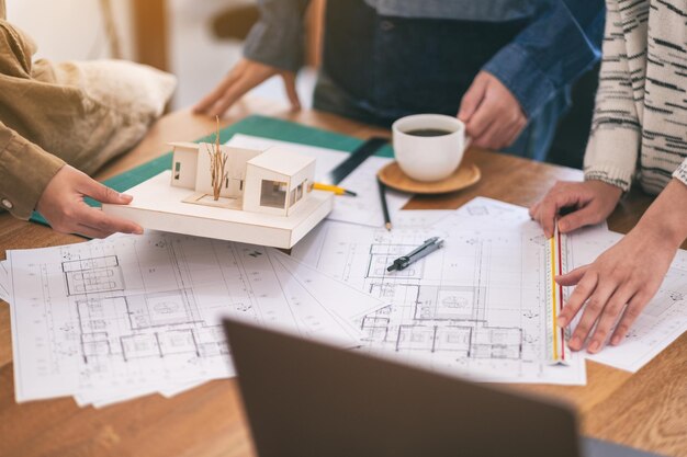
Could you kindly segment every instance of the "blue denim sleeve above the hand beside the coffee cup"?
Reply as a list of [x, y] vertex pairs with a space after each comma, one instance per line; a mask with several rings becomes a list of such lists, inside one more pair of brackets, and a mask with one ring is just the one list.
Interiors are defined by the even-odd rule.
[[554, 0], [483, 68], [498, 78], [528, 118], [600, 57], [602, 0]]

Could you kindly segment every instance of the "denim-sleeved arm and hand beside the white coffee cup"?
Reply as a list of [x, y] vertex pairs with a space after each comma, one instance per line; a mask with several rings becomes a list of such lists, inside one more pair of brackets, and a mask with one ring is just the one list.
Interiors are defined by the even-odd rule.
[[510, 146], [528, 119], [598, 60], [604, 1], [545, 8], [482, 68], [463, 96], [458, 117], [475, 146]]

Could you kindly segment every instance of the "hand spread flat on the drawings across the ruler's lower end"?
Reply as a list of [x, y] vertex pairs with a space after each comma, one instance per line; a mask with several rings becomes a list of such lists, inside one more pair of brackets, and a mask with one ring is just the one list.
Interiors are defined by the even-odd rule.
[[559, 316], [560, 327], [567, 327], [586, 302], [570, 349], [579, 351], [588, 340], [587, 352], [596, 354], [616, 322], [610, 344], [620, 344], [658, 290], [678, 245], [638, 226], [594, 263], [556, 277], [562, 286], [576, 285]]

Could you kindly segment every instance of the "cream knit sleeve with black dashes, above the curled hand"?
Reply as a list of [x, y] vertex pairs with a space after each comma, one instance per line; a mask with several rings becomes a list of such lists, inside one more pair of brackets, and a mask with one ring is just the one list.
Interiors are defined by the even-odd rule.
[[640, 122], [618, 0], [607, 0], [606, 7], [604, 58], [584, 171], [585, 180], [604, 181], [627, 192], [637, 169]]

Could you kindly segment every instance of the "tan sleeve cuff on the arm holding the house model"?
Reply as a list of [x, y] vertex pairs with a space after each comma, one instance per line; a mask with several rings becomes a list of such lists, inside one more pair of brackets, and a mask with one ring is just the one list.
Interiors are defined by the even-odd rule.
[[0, 123], [0, 207], [29, 219], [47, 183], [64, 164]]

